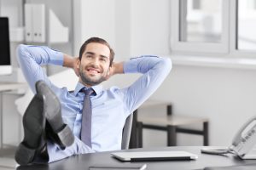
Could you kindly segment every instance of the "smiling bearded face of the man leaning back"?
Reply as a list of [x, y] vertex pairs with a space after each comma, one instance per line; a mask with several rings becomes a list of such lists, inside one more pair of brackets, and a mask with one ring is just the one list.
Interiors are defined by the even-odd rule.
[[81, 60], [78, 61], [79, 81], [87, 87], [95, 86], [105, 80], [110, 64], [108, 46], [90, 42], [87, 44]]

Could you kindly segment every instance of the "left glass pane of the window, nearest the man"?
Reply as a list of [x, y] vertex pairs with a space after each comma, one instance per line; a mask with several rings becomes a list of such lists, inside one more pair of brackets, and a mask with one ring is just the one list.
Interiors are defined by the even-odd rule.
[[180, 42], [221, 42], [222, 1], [180, 1]]

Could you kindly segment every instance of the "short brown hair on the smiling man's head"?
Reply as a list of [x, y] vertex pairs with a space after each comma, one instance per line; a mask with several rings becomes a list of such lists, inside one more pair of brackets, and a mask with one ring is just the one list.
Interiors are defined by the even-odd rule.
[[110, 50], [110, 56], [109, 56], [109, 59], [110, 59], [110, 66], [112, 65], [113, 63], [113, 57], [114, 57], [114, 52], [113, 52], [113, 49], [110, 47], [110, 45], [108, 44], [108, 42], [100, 37], [90, 37], [88, 40], [86, 40], [83, 45], [81, 46], [80, 48], [80, 51], [79, 51], [79, 60], [82, 59], [82, 55], [84, 53], [84, 50], [86, 48], [86, 46], [88, 45], [88, 43], [90, 42], [97, 42], [97, 43], [102, 43], [104, 45], [106, 45], [109, 50]]

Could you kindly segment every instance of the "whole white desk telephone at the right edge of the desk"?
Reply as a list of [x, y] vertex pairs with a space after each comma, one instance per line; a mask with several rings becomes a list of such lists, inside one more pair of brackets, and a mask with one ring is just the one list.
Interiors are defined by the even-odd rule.
[[239, 156], [241, 159], [256, 159], [256, 150], [253, 150], [255, 144], [256, 116], [251, 118], [240, 128], [228, 149], [203, 148], [201, 152], [217, 155], [232, 153]]

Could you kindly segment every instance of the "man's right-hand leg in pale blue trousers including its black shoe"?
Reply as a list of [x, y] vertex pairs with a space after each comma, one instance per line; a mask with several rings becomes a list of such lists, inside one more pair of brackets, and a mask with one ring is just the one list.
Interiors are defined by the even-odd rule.
[[[71, 129], [62, 121], [60, 101], [47, 84], [38, 81], [36, 89], [44, 99], [49, 162], [59, 161], [68, 156], [94, 152], [80, 139], [74, 137]], [[40, 162], [40, 159], [38, 159], [38, 162]]]

